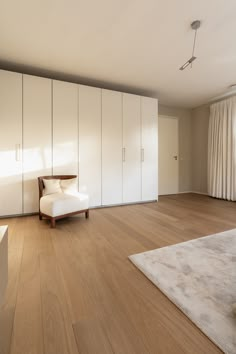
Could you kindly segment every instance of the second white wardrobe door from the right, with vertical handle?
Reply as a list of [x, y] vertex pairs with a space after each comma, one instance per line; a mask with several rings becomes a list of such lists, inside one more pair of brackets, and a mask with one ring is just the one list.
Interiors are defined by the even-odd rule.
[[123, 202], [141, 201], [140, 96], [123, 94]]

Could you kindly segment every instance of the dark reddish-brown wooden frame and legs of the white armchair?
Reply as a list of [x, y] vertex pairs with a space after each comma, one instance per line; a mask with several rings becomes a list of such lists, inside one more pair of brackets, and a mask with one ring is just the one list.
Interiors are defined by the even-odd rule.
[[42, 220], [43, 217], [46, 218], [46, 219], [49, 219], [50, 222], [51, 222], [51, 227], [55, 228], [56, 227], [56, 220], [62, 219], [62, 218], [66, 218], [68, 216], [85, 213], [86, 219], [89, 218], [89, 209], [74, 211], [72, 213], [58, 215], [58, 216], [54, 216], [54, 217], [52, 217], [50, 215], [46, 215], [44, 213], [41, 213], [41, 211], [40, 211], [40, 199], [43, 197], [43, 189], [44, 189], [43, 179], [71, 179], [71, 178], [76, 178], [76, 177], [77, 177], [76, 175], [55, 175], [55, 176], [40, 176], [40, 177], [38, 177], [38, 185], [39, 185], [39, 220]]

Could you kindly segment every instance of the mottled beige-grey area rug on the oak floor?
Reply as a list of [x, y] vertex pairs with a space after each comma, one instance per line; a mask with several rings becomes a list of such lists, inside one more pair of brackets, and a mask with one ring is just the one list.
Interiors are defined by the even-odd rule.
[[225, 353], [236, 353], [236, 229], [130, 260]]

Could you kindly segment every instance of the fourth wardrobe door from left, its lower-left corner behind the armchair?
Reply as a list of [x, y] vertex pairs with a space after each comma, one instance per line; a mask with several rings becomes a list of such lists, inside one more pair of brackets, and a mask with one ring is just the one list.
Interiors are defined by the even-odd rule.
[[79, 85], [79, 190], [101, 205], [101, 89]]

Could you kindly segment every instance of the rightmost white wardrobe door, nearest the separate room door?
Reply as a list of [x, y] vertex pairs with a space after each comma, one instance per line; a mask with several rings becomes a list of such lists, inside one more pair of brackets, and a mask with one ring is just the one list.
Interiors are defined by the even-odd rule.
[[157, 200], [157, 100], [141, 97], [142, 201]]

